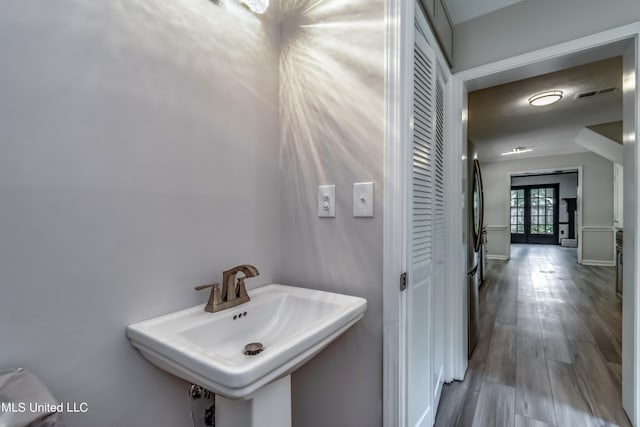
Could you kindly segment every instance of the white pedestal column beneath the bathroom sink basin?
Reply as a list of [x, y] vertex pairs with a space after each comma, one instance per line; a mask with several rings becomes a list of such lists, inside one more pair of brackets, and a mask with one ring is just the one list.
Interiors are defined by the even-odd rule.
[[251, 399], [216, 395], [216, 427], [291, 427], [291, 375], [267, 384]]

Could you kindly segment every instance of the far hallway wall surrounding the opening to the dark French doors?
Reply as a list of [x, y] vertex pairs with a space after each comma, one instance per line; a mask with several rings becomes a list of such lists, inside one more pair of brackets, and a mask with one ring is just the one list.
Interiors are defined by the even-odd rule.
[[[482, 179], [489, 255], [508, 255], [509, 174], [575, 166], [583, 166], [583, 259], [603, 263], [613, 260], [613, 163], [593, 153], [483, 163]], [[602, 230], [607, 227], [608, 231]]]

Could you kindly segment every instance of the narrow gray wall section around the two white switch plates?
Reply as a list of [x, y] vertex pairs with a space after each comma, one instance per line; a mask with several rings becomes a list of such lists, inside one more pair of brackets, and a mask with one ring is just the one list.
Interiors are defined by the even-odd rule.
[[[321, 12], [282, 10], [279, 279], [362, 296], [368, 305], [363, 320], [294, 373], [293, 424], [375, 427], [382, 424], [384, 2], [329, 0]], [[309, 25], [345, 16], [348, 25]], [[360, 181], [375, 182], [374, 218], [352, 217], [352, 185]], [[317, 217], [320, 184], [336, 185], [336, 218]]]

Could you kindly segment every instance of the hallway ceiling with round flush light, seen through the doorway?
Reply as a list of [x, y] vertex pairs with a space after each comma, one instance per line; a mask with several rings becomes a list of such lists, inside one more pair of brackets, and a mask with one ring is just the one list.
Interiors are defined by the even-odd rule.
[[[617, 56], [566, 70], [469, 93], [468, 136], [481, 161], [511, 160], [501, 156], [515, 147], [533, 151], [518, 158], [585, 151], [574, 143], [584, 127], [622, 120], [622, 58]], [[578, 94], [615, 87], [610, 93], [577, 98]], [[528, 98], [559, 89], [563, 98], [546, 107]]]

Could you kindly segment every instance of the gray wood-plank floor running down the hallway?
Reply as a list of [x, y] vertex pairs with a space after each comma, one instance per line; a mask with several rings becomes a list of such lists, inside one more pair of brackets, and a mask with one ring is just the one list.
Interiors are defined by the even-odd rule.
[[614, 267], [579, 265], [571, 248], [513, 245], [509, 261], [489, 262], [479, 327], [436, 426], [631, 426]]

